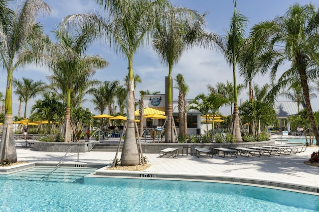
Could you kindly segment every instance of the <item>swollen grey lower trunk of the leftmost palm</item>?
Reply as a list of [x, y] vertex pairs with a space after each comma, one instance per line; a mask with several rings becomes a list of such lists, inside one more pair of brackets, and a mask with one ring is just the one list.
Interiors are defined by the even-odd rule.
[[17, 161], [13, 120], [11, 114], [5, 114], [2, 125], [2, 138], [0, 142], [0, 163], [3, 161], [15, 163]]

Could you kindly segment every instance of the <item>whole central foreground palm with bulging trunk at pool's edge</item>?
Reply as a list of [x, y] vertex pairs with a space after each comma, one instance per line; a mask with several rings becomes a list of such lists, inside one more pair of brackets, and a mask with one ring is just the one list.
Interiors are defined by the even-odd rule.
[[69, 22], [97, 25], [104, 39], [112, 41], [117, 53], [128, 59], [127, 130], [122, 148], [121, 164], [138, 165], [140, 154], [135, 136], [135, 94], [133, 56], [136, 50], [144, 47], [153, 29], [154, 20], [167, 0], [96, 0], [104, 8], [109, 18], [98, 14], [75, 14], [67, 18]]

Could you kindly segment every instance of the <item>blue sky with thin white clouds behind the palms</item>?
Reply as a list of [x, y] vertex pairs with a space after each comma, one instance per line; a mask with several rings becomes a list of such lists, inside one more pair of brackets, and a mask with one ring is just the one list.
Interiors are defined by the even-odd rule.
[[[16, 1], [13, 1], [16, 2]], [[54, 40], [51, 31], [56, 28], [56, 25], [61, 22], [62, 18], [74, 14], [100, 11], [101, 8], [96, 4], [95, 0], [45, 0], [52, 7], [50, 15], [40, 16], [39, 22], [43, 24], [45, 32]], [[276, 16], [284, 15], [288, 10], [289, 5], [299, 2], [304, 5], [312, 3], [318, 7], [319, 0], [238, 0], [238, 10], [248, 17], [249, 23], [246, 29], [248, 34], [249, 29], [256, 23], [264, 20], [272, 20]], [[230, 17], [234, 11], [233, 0], [171, 0], [175, 6], [183, 6], [190, 9], [197, 10], [206, 15], [206, 31], [214, 32], [221, 36], [226, 34], [229, 28]], [[104, 70], [97, 70], [95, 79], [100, 81], [120, 80], [123, 84], [125, 75], [128, 74], [128, 62], [121, 56], [117, 55], [113, 49], [103, 43], [103, 41], [95, 42], [88, 50], [88, 55], [99, 54], [106, 61], [110, 63], [109, 67]], [[289, 68], [290, 64], [286, 63], [280, 68], [280, 72]], [[139, 99], [140, 90], [150, 90], [151, 92], [160, 91], [164, 93], [164, 78], [168, 75], [168, 68], [160, 63], [160, 58], [153, 51], [152, 46], [146, 46], [143, 50], [137, 52], [133, 60], [134, 74], [139, 74], [142, 78], [142, 83], [138, 83], [136, 87], [136, 99]], [[185, 82], [189, 86], [189, 93], [187, 99], [193, 99], [200, 93], [208, 93], [207, 84], [213, 86], [218, 82], [226, 83], [226, 81], [233, 82], [233, 74], [231, 67], [226, 63], [223, 55], [213, 50], [206, 50], [200, 47], [194, 47], [191, 50], [184, 52], [178, 64], [173, 67], [172, 77], [174, 78], [178, 73], [182, 73]], [[5, 94], [6, 72], [0, 72], [0, 92]], [[13, 77], [21, 79], [22, 77], [32, 78], [33, 80], [46, 80], [46, 76], [51, 72], [45, 67], [36, 67], [33, 65], [17, 68]], [[237, 72], [237, 83], [243, 82], [243, 78]], [[262, 86], [270, 82], [268, 75], [257, 76], [254, 83]], [[173, 82], [175, 85], [175, 82]], [[37, 96], [28, 101], [27, 117], [30, 115], [30, 108], [34, 104]], [[86, 97], [90, 99], [90, 96]], [[178, 98], [178, 90], [173, 90], [173, 99]], [[247, 89], [242, 91], [238, 96], [238, 103], [244, 102], [248, 99]], [[288, 101], [287, 99], [281, 99]], [[13, 116], [18, 113], [18, 99], [12, 95], [12, 110]], [[312, 100], [313, 110], [319, 109], [319, 99]], [[99, 114], [99, 111], [94, 110], [94, 105], [89, 101], [82, 105], [84, 108], [89, 108], [93, 114]], [[22, 103], [22, 115], [24, 113], [24, 103]], [[118, 111], [117, 111], [118, 112]], [[227, 107], [220, 108], [220, 112], [224, 115], [229, 115], [230, 109]], [[107, 111], [105, 111], [107, 113]]]

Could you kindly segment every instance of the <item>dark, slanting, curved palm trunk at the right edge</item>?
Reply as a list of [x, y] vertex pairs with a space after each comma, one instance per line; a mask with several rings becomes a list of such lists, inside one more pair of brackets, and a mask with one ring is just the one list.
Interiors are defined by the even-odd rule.
[[309, 116], [310, 125], [311, 125], [313, 132], [315, 134], [315, 137], [316, 137], [316, 141], [317, 141], [316, 145], [318, 145], [319, 144], [319, 133], [318, 133], [318, 129], [316, 127], [313, 109], [312, 109], [311, 103], [310, 103], [309, 86], [308, 86], [308, 81], [307, 81], [306, 69], [302, 69], [300, 71], [300, 78], [301, 78], [301, 85], [302, 85], [303, 91], [304, 91], [305, 103], [306, 103], [306, 108], [307, 108], [307, 112], [308, 112], [308, 116]]

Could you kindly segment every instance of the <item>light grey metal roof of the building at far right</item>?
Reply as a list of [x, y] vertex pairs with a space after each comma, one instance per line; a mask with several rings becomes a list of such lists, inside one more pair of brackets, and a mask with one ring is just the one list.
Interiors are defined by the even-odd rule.
[[[300, 104], [299, 110], [303, 110], [305, 107]], [[288, 117], [298, 113], [298, 103], [297, 102], [275, 102], [274, 109], [277, 111], [278, 117]]]

